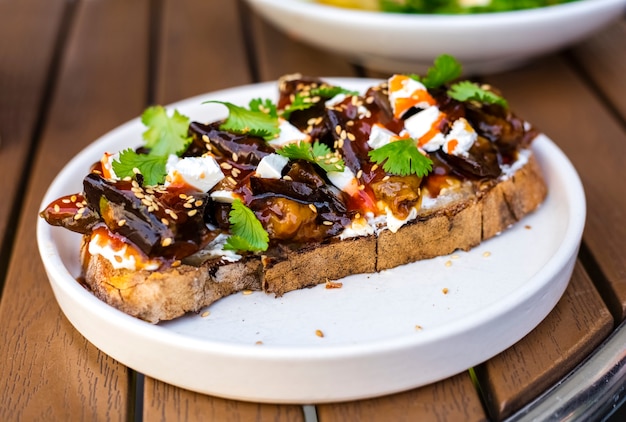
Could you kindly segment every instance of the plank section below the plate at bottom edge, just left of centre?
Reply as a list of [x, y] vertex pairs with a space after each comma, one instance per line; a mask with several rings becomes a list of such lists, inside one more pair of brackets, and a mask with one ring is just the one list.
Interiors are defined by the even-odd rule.
[[146, 421], [303, 421], [301, 406], [227, 400], [194, 393], [152, 378], [144, 390]]

